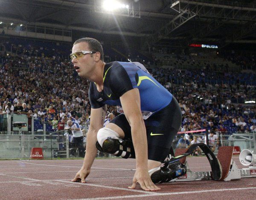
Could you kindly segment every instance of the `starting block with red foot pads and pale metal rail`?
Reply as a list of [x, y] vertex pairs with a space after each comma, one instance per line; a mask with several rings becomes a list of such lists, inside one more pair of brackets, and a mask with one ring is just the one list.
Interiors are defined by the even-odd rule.
[[[230, 181], [239, 180], [241, 178], [256, 177], [256, 167], [249, 167], [239, 169], [236, 162], [232, 160], [234, 147], [220, 147], [217, 158], [221, 163], [222, 177], [220, 180]], [[183, 154], [184, 149], [176, 149], [175, 156]], [[189, 167], [189, 163], [184, 158], [184, 164], [187, 167], [187, 173], [171, 180], [170, 182], [181, 182], [181, 181], [198, 181], [198, 180], [213, 180], [212, 171], [192, 171]]]

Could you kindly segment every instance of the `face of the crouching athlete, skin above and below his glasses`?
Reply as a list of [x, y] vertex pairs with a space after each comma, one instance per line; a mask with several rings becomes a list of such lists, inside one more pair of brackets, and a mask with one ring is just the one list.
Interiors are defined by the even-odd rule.
[[[78, 51], [90, 51], [89, 45], [87, 42], [80, 42], [73, 46], [72, 53]], [[79, 58], [73, 58], [72, 63], [74, 64], [74, 69], [79, 76], [83, 78], [90, 78], [93, 70], [95, 69], [95, 54], [85, 54], [79, 56]]]

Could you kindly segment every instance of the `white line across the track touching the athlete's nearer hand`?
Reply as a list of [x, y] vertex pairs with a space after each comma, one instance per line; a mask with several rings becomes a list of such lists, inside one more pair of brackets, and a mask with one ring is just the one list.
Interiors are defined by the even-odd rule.
[[201, 191], [181, 191], [181, 192], [169, 192], [169, 193], [152, 192], [149, 194], [126, 195], [126, 196], [116, 196], [116, 197], [99, 197], [99, 198], [87, 198], [87, 199], [73, 199], [73, 200], [123, 199], [123, 198], [153, 197], [153, 196], [165, 196], [165, 195], [176, 195], [176, 194], [192, 194], [192, 193], [203, 193], [203, 192], [212, 192], [212, 191], [235, 191], [235, 190], [249, 190], [249, 189], [256, 189], [256, 187], [228, 188], [228, 189], [201, 190]]

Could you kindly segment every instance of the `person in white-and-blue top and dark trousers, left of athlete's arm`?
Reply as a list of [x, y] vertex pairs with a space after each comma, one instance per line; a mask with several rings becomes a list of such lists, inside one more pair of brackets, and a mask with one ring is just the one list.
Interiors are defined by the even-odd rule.
[[68, 120], [65, 129], [72, 131], [74, 146], [79, 149], [79, 156], [84, 157], [83, 132], [79, 124]]

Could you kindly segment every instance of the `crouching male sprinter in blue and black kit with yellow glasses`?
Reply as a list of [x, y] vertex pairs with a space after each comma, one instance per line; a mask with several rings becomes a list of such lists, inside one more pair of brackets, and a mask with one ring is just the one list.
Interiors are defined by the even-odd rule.
[[[154, 183], [185, 174], [186, 167], [177, 163], [160, 168], [181, 125], [181, 110], [172, 94], [142, 70], [141, 64], [105, 64], [102, 46], [96, 39], [77, 40], [70, 57], [79, 76], [91, 81], [86, 154], [72, 181], [85, 183], [97, 149], [123, 158], [136, 157], [131, 189], [138, 182], [146, 191], [157, 191], [160, 188]], [[103, 128], [106, 104], [119, 106], [122, 114]]]

